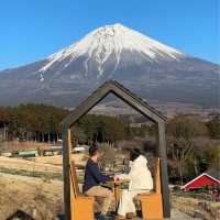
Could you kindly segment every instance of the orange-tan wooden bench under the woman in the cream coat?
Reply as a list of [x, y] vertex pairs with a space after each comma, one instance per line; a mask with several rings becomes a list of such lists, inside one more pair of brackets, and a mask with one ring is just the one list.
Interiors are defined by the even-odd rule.
[[155, 161], [154, 172], [154, 193], [140, 194], [138, 199], [141, 201], [142, 218], [144, 220], [163, 219], [163, 200], [161, 193], [161, 160]]

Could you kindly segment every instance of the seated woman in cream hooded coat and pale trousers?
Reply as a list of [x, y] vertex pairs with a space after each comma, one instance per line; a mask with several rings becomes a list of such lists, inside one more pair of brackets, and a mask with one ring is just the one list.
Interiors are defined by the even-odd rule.
[[135, 216], [133, 198], [138, 194], [148, 193], [153, 189], [153, 178], [147, 167], [147, 160], [139, 148], [131, 150], [130, 161], [129, 174], [121, 174], [114, 177], [130, 179], [129, 189], [122, 190], [117, 219], [124, 219], [128, 213], [130, 217]]

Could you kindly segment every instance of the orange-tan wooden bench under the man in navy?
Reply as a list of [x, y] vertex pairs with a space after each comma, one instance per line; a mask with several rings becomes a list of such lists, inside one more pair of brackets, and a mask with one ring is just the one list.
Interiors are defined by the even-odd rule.
[[70, 162], [70, 211], [73, 220], [94, 220], [94, 197], [79, 194], [78, 180], [74, 161]]

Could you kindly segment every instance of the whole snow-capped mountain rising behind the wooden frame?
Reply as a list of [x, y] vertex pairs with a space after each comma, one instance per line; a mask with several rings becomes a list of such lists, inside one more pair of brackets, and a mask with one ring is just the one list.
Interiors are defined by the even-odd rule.
[[73, 107], [107, 79], [161, 103], [218, 107], [220, 102], [219, 65], [113, 24], [45, 59], [0, 72], [0, 105]]

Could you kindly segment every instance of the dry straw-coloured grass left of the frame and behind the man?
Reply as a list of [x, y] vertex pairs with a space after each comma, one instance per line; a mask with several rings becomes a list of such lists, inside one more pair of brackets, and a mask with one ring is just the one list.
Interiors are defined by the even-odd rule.
[[[73, 155], [77, 164], [84, 154]], [[63, 212], [63, 182], [52, 180], [51, 174], [62, 175], [62, 156], [44, 156], [32, 160], [0, 157], [0, 220], [18, 210], [34, 220], [53, 220]], [[7, 172], [10, 170], [10, 172]], [[13, 170], [13, 175], [7, 174]], [[29, 173], [48, 178], [33, 178]], [[11, 173], [12, 174], [12, 173]], [[21, 176], [23, 175], [23, 176]], [[56, 179], [56, 178], [55, 178]]]

